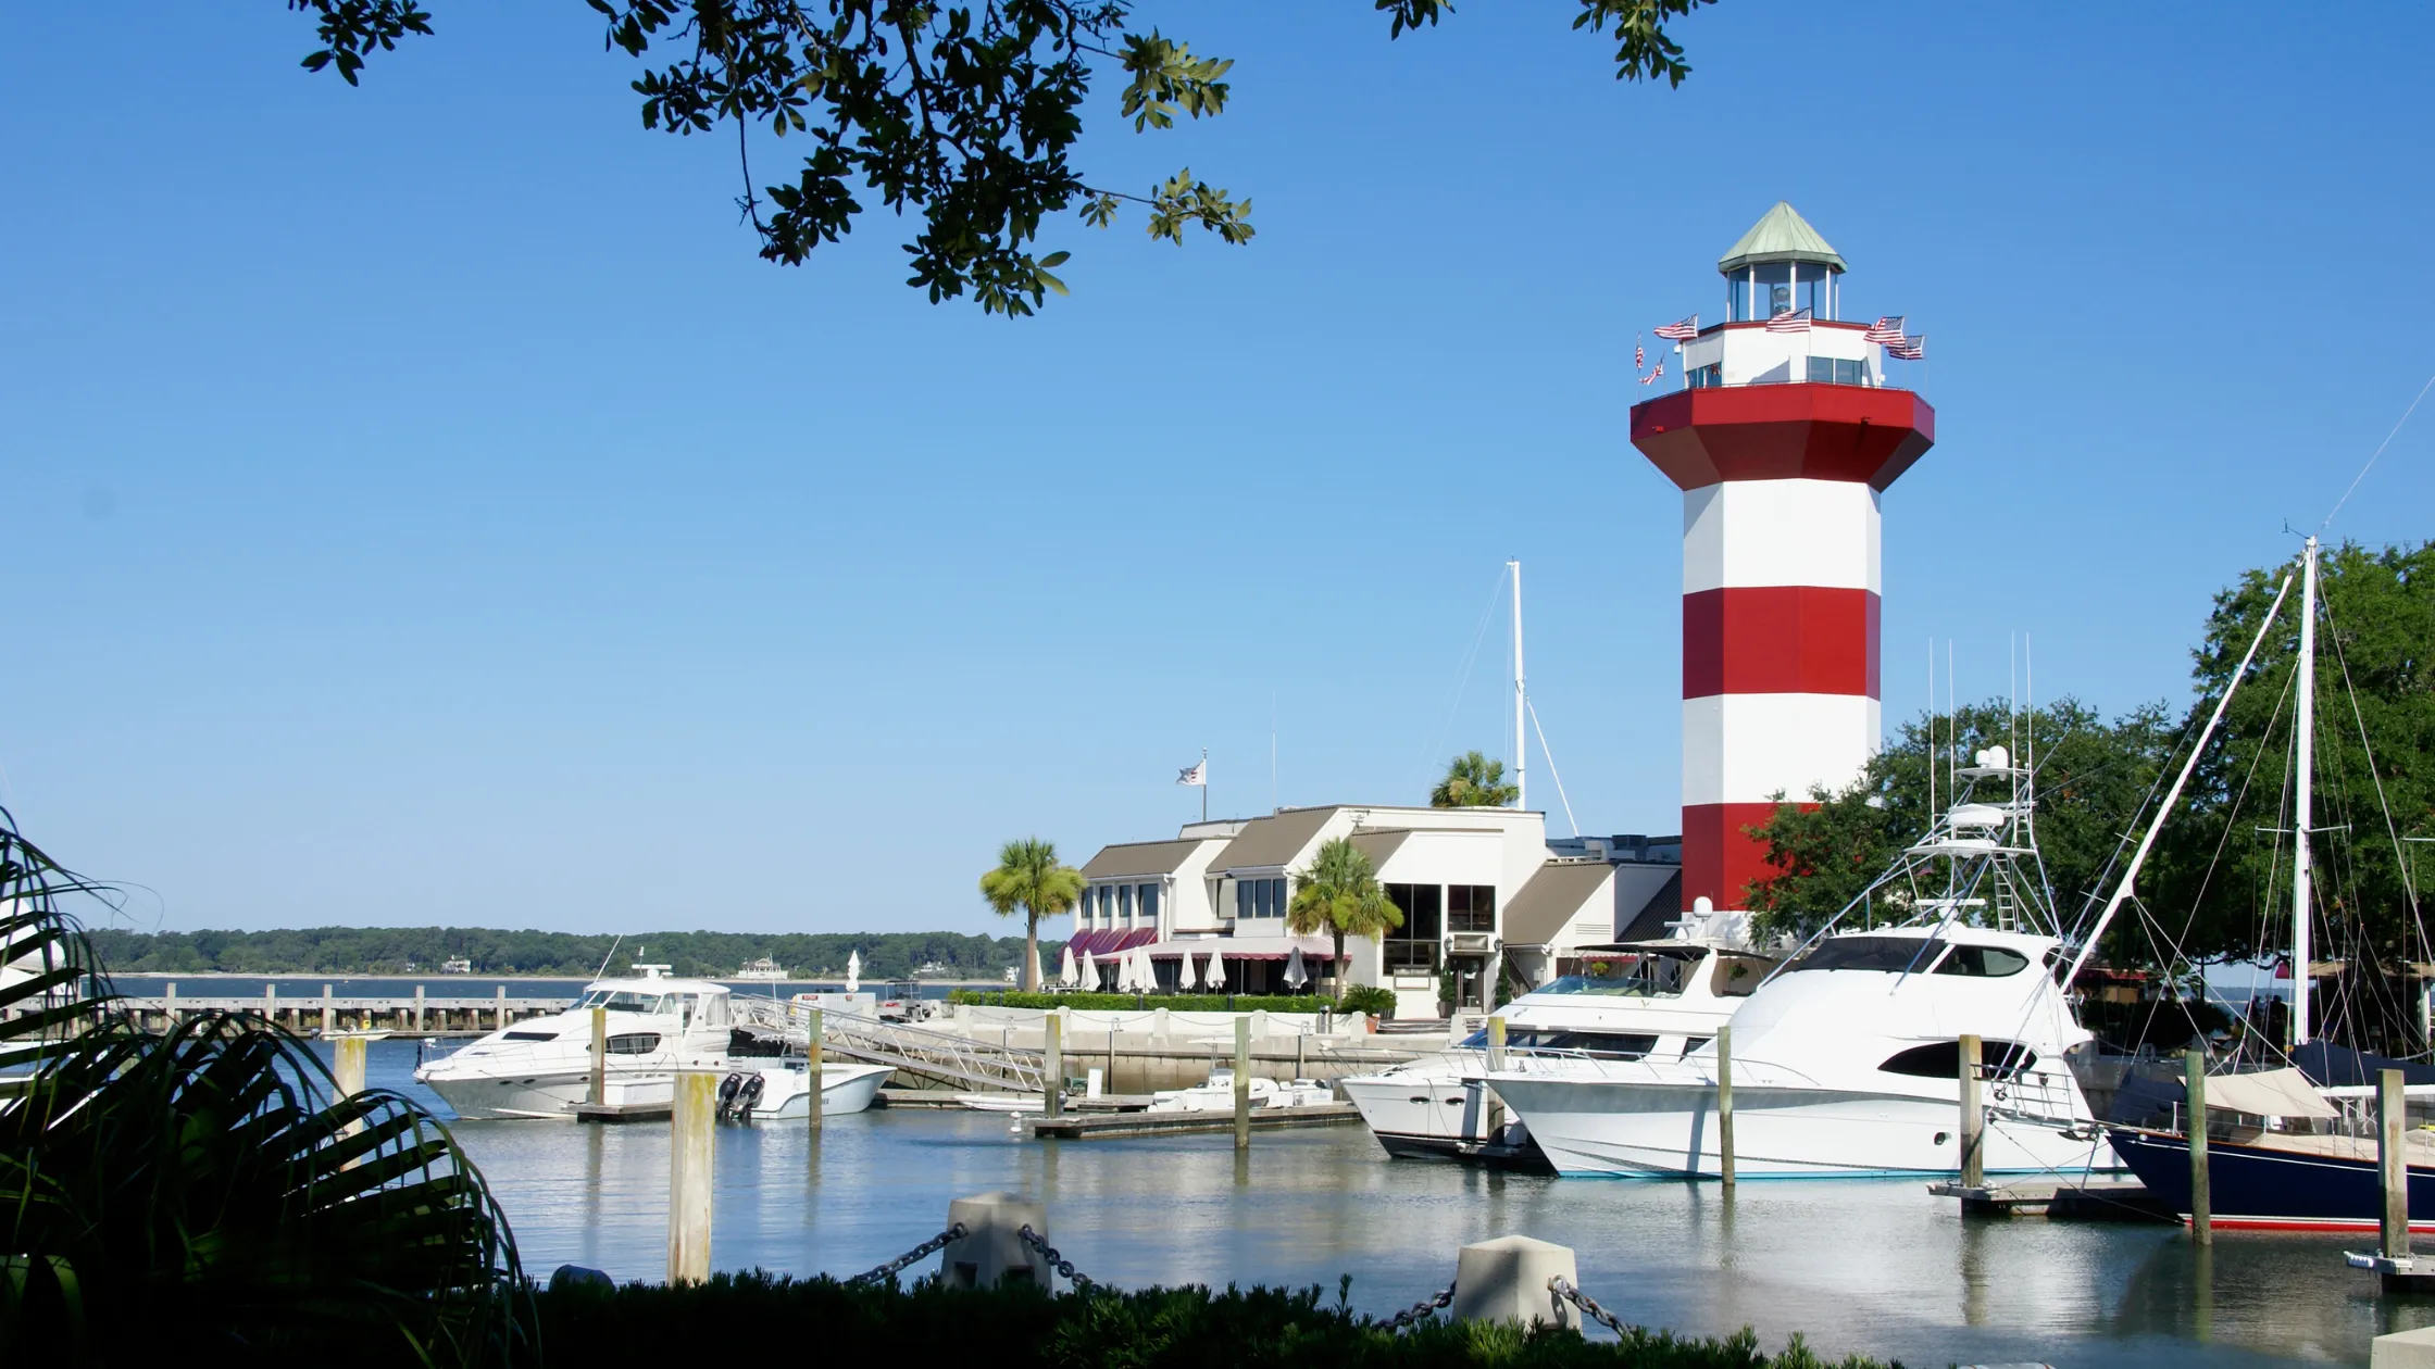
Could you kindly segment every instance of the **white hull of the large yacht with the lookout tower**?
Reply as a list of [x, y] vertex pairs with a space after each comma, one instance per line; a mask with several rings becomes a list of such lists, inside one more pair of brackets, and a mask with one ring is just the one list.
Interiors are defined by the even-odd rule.
[[[1719, 1174], [1714, 1084], [1510, 1079], [1498, 1091], [1558, 1174], [1700, 1179]], [[1734, 1177], [1950, 1177], [1958, 1099], [1734, 1086]], [[2104, 1142], [1989, 1118], [1987, 1174], [2114, 1169]]]

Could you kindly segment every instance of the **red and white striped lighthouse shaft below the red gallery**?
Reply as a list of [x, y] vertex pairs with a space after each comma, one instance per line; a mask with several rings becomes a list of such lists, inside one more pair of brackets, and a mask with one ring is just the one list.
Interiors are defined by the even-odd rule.
[[1880, 736], [1880, 509], [1858, 480], [1683, 494], [1683, 896], [1748, 906], [1775, 799], [1838, 789]]

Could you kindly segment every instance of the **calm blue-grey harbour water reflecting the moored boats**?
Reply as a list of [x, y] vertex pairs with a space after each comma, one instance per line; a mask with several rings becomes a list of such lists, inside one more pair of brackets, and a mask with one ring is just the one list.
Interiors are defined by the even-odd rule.
[[[373, 1047], [375, 1084], [412, 1084], [414, 1043]], [[538, 1274], [575, 1262], [667, 1272], [667, 1128], [458, 1123]], [[2364, 1364], [2435, 1306], [2379, 1303], [2342, 1267], [2357, 1237], [2221, 1233], [2211, 1257], [2170, 1228], [1963, 1223], [1916, 1181], [1714, 1186], [1480, 1174], [1388, 1162], [1361, 1128], [1040, 1145], [1006, 1118], [872, 1111], [718, 1133], [711, 1255], [721, 1269], [855, 1274], [930, 1237], [947, 1198], [1013, 1189], [1049, 1237], [1113, 1284], [1325, 1284], [1386, 1313], [1454, 1279], [1468, 1240], [1571, 1245], [1580, 1284], [1629, 1320], [1778, 1347], [1921, 1364]]]

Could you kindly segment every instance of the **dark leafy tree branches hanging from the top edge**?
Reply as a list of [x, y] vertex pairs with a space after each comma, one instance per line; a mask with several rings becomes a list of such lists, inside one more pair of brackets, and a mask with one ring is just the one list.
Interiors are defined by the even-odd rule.
[[[906, 244], [911, 275], [930, 302], [972, 295], [989, 314], [1023, 317], [1064, 283], [1071, 256], [1040, 251], [1052, 214], [1088, 227], [1144, 209], [1152, 239], [1183, 244], [1200, 227], [1247, 244], [1252, 200], [1191, 168], [1142, 192], [1098, 185], [1069, 161], [1084, 105], [1103, 68], [1125, 78], [1120, 117], [1132, 129], [1174, 129], [1218, 117], [1232, 93], [1230, 58], [1198, 56], [1157, 27], [1132, 32], [1137, 0], [587, 0], [606, 19], [606, 46], [645, 61], [633, 80], [643, 127], [679, 136], [735, 129], [743, 192], [738, 214], [760, 256], [801, 266], [852, 231], [862, 195], [918, 217]], [[1670, 19], [1714, 0], [1578, 0], [1575, 29], [1617, 37], [1617, 80], [1690, 76]], [[365, 58], [429, 37], [416, 0], [287, 0], [317, 17], [307, 71], [356, 85]], [[1373, 0], [1388, 37], [1434, 27], [1449, 0]], [[789, 180], [760, 185], [752, 134], [804, 139]]]

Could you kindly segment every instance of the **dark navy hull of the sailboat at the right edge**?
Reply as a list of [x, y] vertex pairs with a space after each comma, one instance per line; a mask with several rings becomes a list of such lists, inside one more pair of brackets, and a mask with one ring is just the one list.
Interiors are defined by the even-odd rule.
[[[2189, 1138], [2109, 1128], [2114, 1152], [2160, 1203], [2189, 1220]], [[2384, 1179], [2374, 1160], [2206, 1145], [2211, 1225], [2230, 1230], [2379, 1230]], [[2435, 1230], [2435, 1169], [2411, 1167], [2411, 1230]]]

